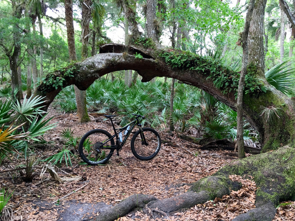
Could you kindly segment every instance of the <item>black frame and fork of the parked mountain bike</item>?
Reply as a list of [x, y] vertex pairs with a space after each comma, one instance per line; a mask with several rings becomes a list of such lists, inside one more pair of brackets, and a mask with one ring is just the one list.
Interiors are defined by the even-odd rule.
[[[136, 118], [134, 121], [128, 123], [126, 126], [124, 126], [124, 127], [122, 127], [122, 128], [117, 128], [117, 129], [116, 129], [115, 126], [114, 126], [114, 123], [113, 123], [113, 121], [112, 121], [112, 118], [110, 118], [110, 120], [111, 120], [111, 122], [112, 122], [112, 125], [113, 125], [113, 128], [114, 128], [114, 132], [115, 132], [115, 134], [114, 134], [114, 136], [112, 136], [112, 138], [108, 139], [108, 140], [105, 141], [103, 144], [101, 144], [102, 147], [100, 146], [100, 147], [97, 148], [97, 149], [116, 150], [116, 149], [121, 148], [121, 147], [125, 144], [125, 142], [127, 141], [127, 138], [130, 136], [130, 133], [131, 133], [131, 131], [133, 130], [133, 128], [135, 127], [135, 125], [137, 125], [138, 128], [141, 130], [141, 133], [140, 133], [141, 141], [144, 142], [145, 145], [148, 145], [148, 143], [147, 143], [146, 140], [145, 140], [145, 135], [142, 133], [142, 132], [143, 132], [143, 130], [142, 130], [142, 126], [141, 126], [141, 124], [139, 123], [139, 121], [138, 121], [137, 118]], [[133, 123], [133, 124], [132, 124], [132, 123]], [[124, 130], [126, 130], [127, 127], [128, 127], [129, 125], [131, 125], [131, 124], [132, 124], [132, 126], [130, 127], [130, 129], [129, 129], [128, 133], [126, 134], [126, 136], [125, 136], [124, 140], [122, 141], [122, 143], [120, 143], [120, 144], [118, 145], [117, 142], [116, 142], [116, 144], [115, 144], [114, 147], [103, 147], [104, 144], [106, 144], [107, 142], [109, 142], [109, 141], [110, 141], [111, 139], [113, 139], [114, 137], [116, 137], [116, 140], [119, 140], [119, 133], [122, 132], [122, 131], [124, 131]], [[118, 132], [117, 132], [117, 131], [118, 131]]]

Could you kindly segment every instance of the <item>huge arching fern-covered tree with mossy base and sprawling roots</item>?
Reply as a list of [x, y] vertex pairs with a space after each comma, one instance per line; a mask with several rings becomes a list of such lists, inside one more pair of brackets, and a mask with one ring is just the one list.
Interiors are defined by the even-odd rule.
[[[262, 152], [233, 161], [217, 173], [192, 184], [190, 191], [164, 200], [152, 196], [135, 195], [111, 207], [93, 220], [114, 220], [135, 207], [148, 203], [149, 208], [172, 212], [191, 207], [215, 197], [229, 194], [240, 185], [229, 175], [251, 176], [257, 184], [256, 208], [234, 220], [272, 220], [280, 200], [293, 199], [295, 195], [295, 101], [269, 85], [264, 76], [263, 19], [266, 0], [255, 0], [253, 18], [248, 36], [249, 57], [243, 98], [243, 116], [259, 132]], [[152, 23], [151, 23], [152, 24]], [[140, 54], [141, 58], [135, 55]], [[57, 70], [35, 91], [45, 96], [47, 109], [62, 88], [76, 85], [86, 90], [99, 77], [118, 70], [135, 70], [147, 82], [153, 77], [171, 77], [196, 86], [222, 103], [236, 110], [236, 92], [239, 73], [224, 67], [220, 60], [202, 57], [180, 50], [165, 49], [151, 38], [140, 38], [132, 46], [105, 44], [100, 53], [82, 62]], [[273, 114], [264, 120], [262, 110]], [[278, 116], [278, 117], [276, 117]], [[281, 147], [282, 146], [282, 147]], [[270, 151], [271, 150], [271, 151]], [[269, 152], [267, 152], [269, 151]], [[136, 202], [135, 202], [136, 199]]]

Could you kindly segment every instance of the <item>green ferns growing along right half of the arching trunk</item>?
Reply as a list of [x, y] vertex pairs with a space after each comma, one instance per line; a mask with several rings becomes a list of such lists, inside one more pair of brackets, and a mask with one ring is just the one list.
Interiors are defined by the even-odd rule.
[[[211, 78], [214, 86], [221, 89], [224, 94], [232, 92], [237, 96], [240, 74], [222, 65], [220, 60], [178, 51], [162, 51], [159, 57], [164, 58], [172, 68], [201, 72], [208, 76], [207, 79]], [[266, 92], [263, 83], [248, 73], [245, 77], [245, 93], [261, 91]]]

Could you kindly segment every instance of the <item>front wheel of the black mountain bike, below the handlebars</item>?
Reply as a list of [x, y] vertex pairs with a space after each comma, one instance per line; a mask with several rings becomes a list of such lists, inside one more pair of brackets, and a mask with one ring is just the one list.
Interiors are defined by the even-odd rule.
[[[146, 143], [145, 143], [145, 141]], [[144, 127], [136, 131], [131, 140], [131, 151], [140, 160], [153, 159], [161, 148], [161, 138], [157, 131]]]

